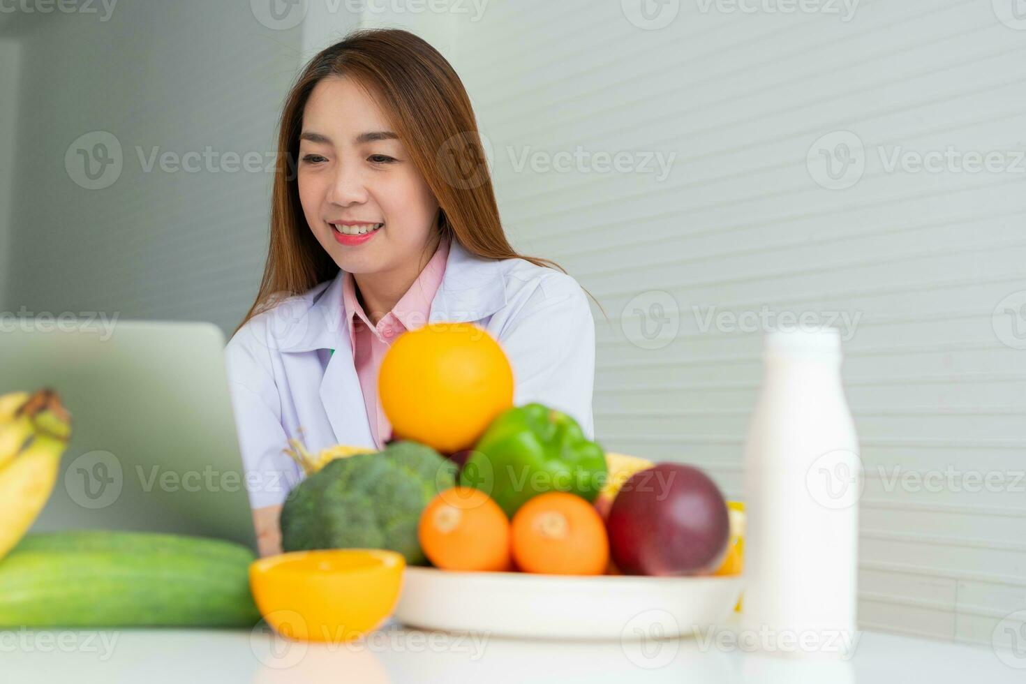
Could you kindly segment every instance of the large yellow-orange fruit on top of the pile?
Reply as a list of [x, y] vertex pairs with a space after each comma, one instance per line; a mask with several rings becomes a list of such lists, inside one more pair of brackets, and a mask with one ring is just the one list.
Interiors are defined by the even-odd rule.
[[378, 391], [397, 438], [452, 453], [513, 405], [513, 368], [484, 328], [431, 323], [392, 344]]

